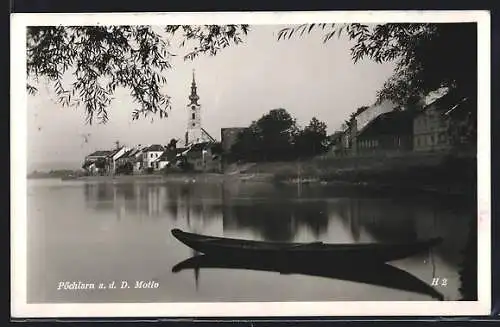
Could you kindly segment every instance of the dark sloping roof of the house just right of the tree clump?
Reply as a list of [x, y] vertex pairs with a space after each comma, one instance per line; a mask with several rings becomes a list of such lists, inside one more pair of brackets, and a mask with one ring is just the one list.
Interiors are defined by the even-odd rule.
[[397, 110], [380, 114], [361, 129], [358, 137], [411, 133], [413, 116], [413, 112]]

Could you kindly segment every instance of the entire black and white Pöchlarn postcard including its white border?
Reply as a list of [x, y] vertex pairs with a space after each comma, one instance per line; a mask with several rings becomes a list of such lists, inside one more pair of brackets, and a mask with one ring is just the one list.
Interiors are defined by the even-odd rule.
[[13, 317], [489, 314], [487, 12], [11, 18]]

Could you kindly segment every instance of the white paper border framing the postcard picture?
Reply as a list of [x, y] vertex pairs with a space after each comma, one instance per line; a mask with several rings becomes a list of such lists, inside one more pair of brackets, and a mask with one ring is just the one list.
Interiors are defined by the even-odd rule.
[[[478, 298], [475, 302], [254, 302], [169, 304], [26, 303], [26, 26], [300, 24], [310, 22], [478, 22]], [[259, 317], [489, 315], [490, 15], [487, 11], [360, 11], [258, 13], [113, 13], [11, 15], [11, 315], [44, 317]]]

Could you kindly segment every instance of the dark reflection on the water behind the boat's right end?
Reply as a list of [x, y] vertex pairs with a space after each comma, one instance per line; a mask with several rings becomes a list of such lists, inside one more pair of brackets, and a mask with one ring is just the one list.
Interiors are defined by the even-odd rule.
[[355, 240], [360, 229], [379, 242], [406, 242], [441, 236], [444, 242], [435, 253], [452, 265], [462, 260], [461, 251], [470, 229], [468, 217], [474, 215], [474, 209], [467, 201], [443, 197], [343, 199], [337, 210]]

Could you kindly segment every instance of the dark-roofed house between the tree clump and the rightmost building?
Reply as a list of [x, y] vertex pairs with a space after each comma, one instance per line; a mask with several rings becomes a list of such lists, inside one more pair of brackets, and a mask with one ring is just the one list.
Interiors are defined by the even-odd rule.
[[394, 110], [383, 113], [361, 129], [356, 137], [358, 154], [411, 151], [413, 115]]

